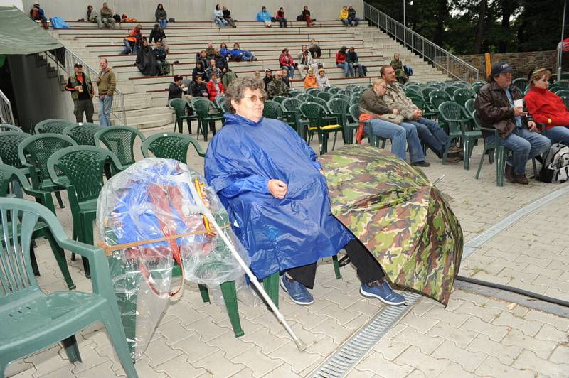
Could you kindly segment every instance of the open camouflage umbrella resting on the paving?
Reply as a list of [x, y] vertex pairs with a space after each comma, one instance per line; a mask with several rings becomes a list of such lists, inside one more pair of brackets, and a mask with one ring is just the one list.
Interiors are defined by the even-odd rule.
[[346, 145], [319, 158], [332, 212], [391, 281], [448, 303], [462, 229], [425, 175], [385, 150]]

